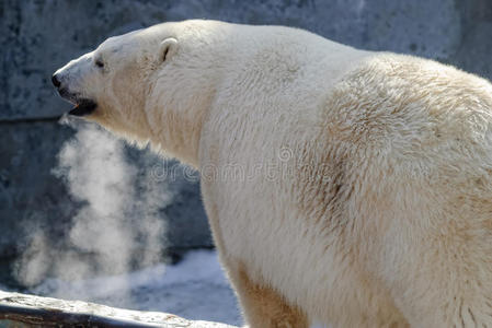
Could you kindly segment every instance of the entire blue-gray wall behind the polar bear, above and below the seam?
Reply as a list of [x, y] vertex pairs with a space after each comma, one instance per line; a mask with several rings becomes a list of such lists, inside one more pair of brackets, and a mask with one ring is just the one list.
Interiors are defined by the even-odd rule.
[[[355, 47], [424, 56], [492, 77], [488, 0], [0, 1], [0, 256], [23, 253], [36, 230], [55, 244], [65, 241], [84, 206], [53, 174], [75, 131], [57, 124], [69, 105], [52, 87], [52, 73], [108, 36], [194, 17], [297, 26]], [[137, 167], [135, 178], [178, 167], [148, 150], [126, 147], [124, 153]], [[173, 179], [159, 177], [137, 183], [136, 190], [151, 186], [158, 195], [173, 195], [156, 207], [155, 215], [167, 223], [162, 243], [174, 249], [210, 247], [198, 184], [181, 168]]]

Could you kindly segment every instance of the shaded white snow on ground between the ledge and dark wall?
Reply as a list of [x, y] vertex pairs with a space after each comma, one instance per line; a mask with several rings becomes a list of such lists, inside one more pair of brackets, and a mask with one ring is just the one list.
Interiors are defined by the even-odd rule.
[[115, 307], [159, 311], [195, 319], [242, 325], [238, 304], [217, 254], [194, 250], [176, 266], [84, 281], [47, 280], [37, 295], [80, 300]]

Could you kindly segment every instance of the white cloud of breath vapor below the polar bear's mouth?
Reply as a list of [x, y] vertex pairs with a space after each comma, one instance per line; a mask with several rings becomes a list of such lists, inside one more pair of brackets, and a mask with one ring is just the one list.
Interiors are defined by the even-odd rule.
[[[56, 281], [119, 274], [162, 260], [164, 221], [159, 210], [172, 196], [150, 171], [142, 173], [127, 161], [122, 141], [94, 125], [76, 126], [78, 132], [64, 144], [54, 174], [66, 181], [81, 207], [61, 249], [43, 229], [34, 230], [16, 277], [27, 286], [56, 278], [49, 291], [41, 292], [84, 298], [66, 295]], [[56, 218], [52, 224], [57, 224]]]

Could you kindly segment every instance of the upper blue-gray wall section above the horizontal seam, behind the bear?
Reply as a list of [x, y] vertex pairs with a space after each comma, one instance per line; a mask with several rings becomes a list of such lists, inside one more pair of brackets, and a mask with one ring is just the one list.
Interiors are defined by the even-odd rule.
[[[484, 5], [484, 1], [480, 5]], [[207, 17], [282, 24], [356, 47], [447, 59], [461, 40], [454, 0], [7, 1], [1, 11], [0, 118], [59, 115], [50, 74], [112, 35], [159, 22]]]

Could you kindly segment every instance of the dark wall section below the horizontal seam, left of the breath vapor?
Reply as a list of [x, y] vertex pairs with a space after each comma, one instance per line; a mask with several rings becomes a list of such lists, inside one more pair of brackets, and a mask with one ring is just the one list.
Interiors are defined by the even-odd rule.
[[32, 230], [46, 229], [59, 238], [68, 229], [76, 208], [64, 181], [50, 171], [73, 132], [56, 121], [3, 124], [1, 131], [0, 255], [13, 256], [25, 247]]

